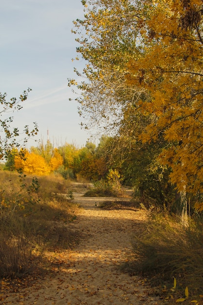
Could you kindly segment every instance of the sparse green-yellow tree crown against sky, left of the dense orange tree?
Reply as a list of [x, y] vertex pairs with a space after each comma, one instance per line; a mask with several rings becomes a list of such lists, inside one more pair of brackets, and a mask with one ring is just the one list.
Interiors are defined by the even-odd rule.
[[[126, 0], [82, 1], [85, 19], [77, 19], [73, 32], [79, 37], [77, 52], [88, 61], [84, 81], [76, 84], [81, 92], [79, 114], [82, 126], [93, 127], [101, 135], [118, 132], [126, 102], [137, 99], [137, 90], [126, 84], [126, 65], [140, 50], [136, 47], [137, 31], [133, 22], [134, 7]], [[130, 26], [129, 26], [130, 24]], [[85, 34], [83, 34], [85, 33]]]

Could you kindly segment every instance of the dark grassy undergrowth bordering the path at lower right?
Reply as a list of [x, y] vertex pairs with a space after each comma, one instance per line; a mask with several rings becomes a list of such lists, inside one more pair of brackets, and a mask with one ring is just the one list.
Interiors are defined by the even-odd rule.
[[[144, 227], [143, 227], [144, 226]], [[148, 221], [133, 236], [133, 255], [122, 268], [129, 273], [142, 273], [150, 278], [165, 301], [175, 304], [175, 298], [185, 295], [188, 287], [192, 299], [203, 294], [203, 219], [195, 215], [188, 228], [175, 216], [148, 213]], [[171, 284], [177, 279], [177, 289]], [[196, 300], [195, 299], [195, 300]], [[174, 302], [174, 303], [173, 303]], [[201, 300], [198, 301], [198, 304]]]

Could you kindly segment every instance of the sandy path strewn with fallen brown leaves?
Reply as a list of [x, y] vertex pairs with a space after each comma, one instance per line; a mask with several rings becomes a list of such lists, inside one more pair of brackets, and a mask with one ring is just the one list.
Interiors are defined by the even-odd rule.
[[[7, 296], [2, 304], [20, 305], [157, 305], [142, 279], [119, 271], [130, 252], [131, 235], [143, 221], [141, 211], [100, 210], [101, 198], [74, 194], [84, 207], [70, 225], [84, 234], [74, 250], [56, 255], [55, 267], [37, 284]], [[105, 199], [104, 199], [105, 200]], [[109, 200], [109, 198], [108, 198]], [[64, 259], [65, 257], [65, 259]]]

